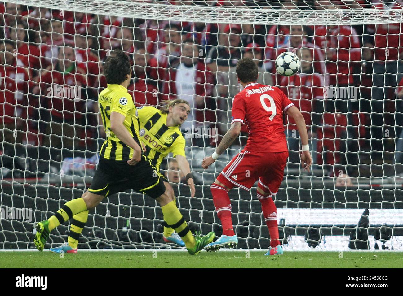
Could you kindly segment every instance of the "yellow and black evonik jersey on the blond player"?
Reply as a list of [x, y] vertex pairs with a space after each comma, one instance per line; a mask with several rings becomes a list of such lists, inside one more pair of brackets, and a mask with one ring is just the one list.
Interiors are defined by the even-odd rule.
[[166, 117], [161, 110], [152, 106], [137, 107], [136, 115], [140, 120], [140, 139], [145, 144], [147, 158], [157, 171], [162, 159], [172, 152], [185, 156], [185, 139], [179, 126], [166, 126]]

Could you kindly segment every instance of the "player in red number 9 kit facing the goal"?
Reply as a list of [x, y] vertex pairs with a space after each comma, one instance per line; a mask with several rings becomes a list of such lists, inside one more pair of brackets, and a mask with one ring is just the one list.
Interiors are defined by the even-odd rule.
[[231, 201], [228, 192], [234, 186], [245, 190], [258, 182], [258, 199], [270, 232], [270, 248], [266, 255], [281, 255], [283, 249], [278, 238], [277, 208], [272, 197], [283, 181], [288, 149], [283, 126], [283, 113], [291, 116], [301, 137], [301, 164], [305, 170], [312, 165], [305, 120], [298, 108], [277, 87], [256, 82], [258, 68], [251, 58], [237, 63], [237, 77], [243, 87], [232, 104], [231, 128], [226, 132], [213, 155], [203, 159], [207, 169], [238, 137], [242, 124], [246, 124], [249, 138], [245, 148], [222, 170], [211, 185], [214, 206], [222, 224], [222, 236], [204, 249], [216, 251], [224, 246], [236, 246], [231, 218]]

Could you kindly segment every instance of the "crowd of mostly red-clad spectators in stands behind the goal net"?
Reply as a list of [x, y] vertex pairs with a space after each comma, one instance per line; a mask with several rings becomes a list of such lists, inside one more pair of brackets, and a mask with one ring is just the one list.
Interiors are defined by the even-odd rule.
[[[315, 9], [403, 6], [403, 1], [377, 0], [155, 2], [294, 9], [308, 9], [308, 4]], [[102, 62], [121, 48], [131, 57], [134, 79], [129, 92], [136, 105], [185, 99], [193, 111], [183, 128], [193, 124], [216, 126], [220, 134], [226, 131], [231, 100], [239, 91], [235, 66], [241, 57], [250, 56], [258, 65], [259, 82], [281, 87], [300, 108], [312, 137], [314, 163], [328, 165], [330, 175], [338, 168], [334, 165], [349, 164], [348, 174], [357, 176], [358, 163], [381, 164], [374, 160], [380, 159], [394, 164], [395, 149], [396, 161], [403, 160], [403, 131], [395, 128], [403, 125], [401, 114], [395, 114], [403, 99], [403, 47], [399, 46], [403, 24], [191, 23], [0, 2], [0, 26], [1, 141], [82, 150], [96, 147], [98, 132], [103, 133], [98, 131], [96, 102], [106, 87], [100, 75]], [[276, 75], [274, 60], [285, 51], [297, 53], [302, 74]], [[324, 94], [325, 86], [357, 87], [357, 100], [334, 99], [332, 88]], [[64, 93], [56, 95], [60, 89]], [[71, 90], [70, 96], [66, 89]], [[298, 164], [299, 135], [292, 120], [285, 123], [289, 148], [295, 151], [290, 161]], [[386, 139], [385, 130], [390, 133]], [[396, 143], [395, 136], [400, 138]]]

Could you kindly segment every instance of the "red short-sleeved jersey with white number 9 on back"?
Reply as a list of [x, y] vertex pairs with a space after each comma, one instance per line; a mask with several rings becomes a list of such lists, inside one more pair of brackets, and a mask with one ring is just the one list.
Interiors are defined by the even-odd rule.
[[294, 106], [277, 87], [250, 83], [233, 99], [231, 123], [247, 125], [249, 138], [245, 150], [251, 152], [288, 151], [283, 112]]

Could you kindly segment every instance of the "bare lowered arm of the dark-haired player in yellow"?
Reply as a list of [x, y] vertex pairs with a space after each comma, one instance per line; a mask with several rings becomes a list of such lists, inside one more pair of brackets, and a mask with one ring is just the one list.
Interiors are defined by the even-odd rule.
[[133, 157], [127, 161], [128, 164], [134, 166], [141, 158], [141, 148], [139, 144], [134, 141], [133, 137], [130, 135], [129, 131], [123, 125], [125, 121], [125, 116], [119, 112], [110, 112], [110, 130], [118, 137], [120, 141], [125, 143], [127, 146], [133, 148]]

